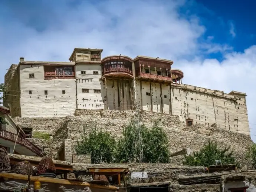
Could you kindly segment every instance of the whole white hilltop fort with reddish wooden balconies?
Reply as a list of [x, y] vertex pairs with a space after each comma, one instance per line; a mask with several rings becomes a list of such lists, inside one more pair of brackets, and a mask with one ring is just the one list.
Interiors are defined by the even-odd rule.
[[177, 115], [187, 126], [201, 123], [249, 135], [246, 94], [182, 83], [173, 61], [108, 56], [75, 48], [70, 62], [20, 58], [5, 75], [4, 106], [13, 117], [63, 117], [76, 109], [147, 110]]

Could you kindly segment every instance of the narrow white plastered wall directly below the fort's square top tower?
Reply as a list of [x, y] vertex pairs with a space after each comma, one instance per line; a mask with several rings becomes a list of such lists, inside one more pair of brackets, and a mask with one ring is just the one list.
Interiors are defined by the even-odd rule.
[[[101, 81], [101, 64], [76, 64], [76, 89], [78, 109], [104, 109], [105, 85]], [[85, 71], [85, 75], [81, 74]], [[93, 75], [93, 72], [98, 75]], [[82, 89], [89, 89], [89, 93], [83, 93]], [[94, 89], [101, 93], [94, 93]]]

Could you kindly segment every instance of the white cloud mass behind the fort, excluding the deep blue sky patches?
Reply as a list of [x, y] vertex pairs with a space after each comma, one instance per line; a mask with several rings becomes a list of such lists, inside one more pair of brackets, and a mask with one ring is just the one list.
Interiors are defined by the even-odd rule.
[[[0, 29], [1, 80], [10, 64], [17, 63], [21, 56], [26, 60], [66, 61], [74, 47], [103, 48], [103, 56], [159, 56], [174, 60], [173, 67], [184, 72], [184, 83], [225, 92], [246, 92], [250, 126], [255, 126], [256, 47], [227, 54], [232, 47], [212, 43], [213, 36], [199, 43], [205, 27], [199, 24], [200, 18], [184, 18], [178, 13], [184, 1], [159, 2], [106, 0], [97, 7], [88, 3], [76, 8], [63, 6], [47, 13], [54, 17], [43, 31], [22, 22], [19, 18], [24, 11], [16, 10], [20, 14], [16, 20], [0, 20], [4, 26]], [[235, 36], [234, 26], [230, 33]], [[222, 62], [202, 59], [203, 53], [217, 52], [224, 54]]]

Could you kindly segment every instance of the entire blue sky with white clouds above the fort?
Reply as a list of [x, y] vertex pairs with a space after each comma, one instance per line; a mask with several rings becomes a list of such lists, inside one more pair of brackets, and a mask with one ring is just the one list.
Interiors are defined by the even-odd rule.
[[247, 93], [256, 141], [255, 6], [254, 0], [1, 0], [0, 82], [19, 57], [68, 61], [74, 47], [171, 59], [183, 83]]

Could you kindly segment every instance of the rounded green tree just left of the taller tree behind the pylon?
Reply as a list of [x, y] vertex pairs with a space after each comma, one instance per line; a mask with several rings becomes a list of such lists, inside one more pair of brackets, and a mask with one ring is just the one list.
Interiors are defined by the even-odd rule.
[[76, 153], [91, 154], [92, 163], [112, 162], [116, 143], [110, 133], [93, 128], [86, 135], [84, 129], [82, 140], [77, 142]]

